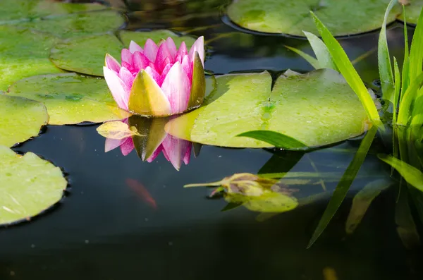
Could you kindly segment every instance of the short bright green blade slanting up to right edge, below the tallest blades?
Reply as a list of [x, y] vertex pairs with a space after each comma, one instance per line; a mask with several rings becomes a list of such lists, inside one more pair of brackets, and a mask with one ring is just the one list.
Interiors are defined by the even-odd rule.
[[407, 87], [407, 90], [403, 92], [403, 98], [400, 102], [397, 120], [397, 124], [399, 126], [407, 126], [410, 114], [412, 114], [412, 106], [417, 98], [419, 88], [423, 85], [423, 73], [420, 73], [415, 80], [410, 80], [410, 82], [411, 83]]

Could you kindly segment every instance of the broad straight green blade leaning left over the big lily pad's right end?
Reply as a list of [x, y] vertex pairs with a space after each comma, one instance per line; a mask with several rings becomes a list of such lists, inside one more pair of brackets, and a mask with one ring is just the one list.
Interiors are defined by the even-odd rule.
[[350, 85], [350, 87], [354, 90], [355, 94], [362, 102], [362, 105], [367, 112], [367, 116], [369, 116], [369, 119], [376, 126], [382, 126], [381, 118], [379, 117], [379, 113], [376, 109], [376, 106], [374, 105], [373, 99], [369, 95], [369, 92], [367, 92], [366, 86], [360, 78], [360, 75], [358, 75], [357, 71], [355, 70], [350, 59], [348, 59], [347, 54], [345, 54], [341, 44], [336, 41], [331, 32], [326, 28], [326, 26], [324, 26], [323, 23], [321, 23], [319, 18], [317, 18], [313, 12], [310, 13], [312, 13], [317, 30], [319, 30], [320, 36], [328, 47], [333, 61], [335, 61], [336, 66], [347, 81], [348, 85]]

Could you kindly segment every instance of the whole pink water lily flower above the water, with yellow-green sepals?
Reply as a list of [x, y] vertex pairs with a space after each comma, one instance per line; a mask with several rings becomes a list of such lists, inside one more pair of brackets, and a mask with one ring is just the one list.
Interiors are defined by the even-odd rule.
[[171, 37], [144, 49], [131, 41], [122, 64], [106, 54], [104, 78], [121, 109], [144, 116], [170, 116], [200, 106], [205, 95], [204, 37], [188, 51]]

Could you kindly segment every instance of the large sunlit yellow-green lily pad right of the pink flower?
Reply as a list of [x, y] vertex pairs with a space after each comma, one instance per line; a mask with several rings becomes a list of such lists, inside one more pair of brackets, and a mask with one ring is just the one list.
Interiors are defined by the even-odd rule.
[[269, 147], [237, 135], [273, 130], [319, 147], [361, 135], [367, 127], [360, 100], [331, 69], [291, 71], [276, 80], [272, 92], [267, 72], [221, 75], [216, 81], [204, 106], [167, 123], [167, 133], [205, 145]]

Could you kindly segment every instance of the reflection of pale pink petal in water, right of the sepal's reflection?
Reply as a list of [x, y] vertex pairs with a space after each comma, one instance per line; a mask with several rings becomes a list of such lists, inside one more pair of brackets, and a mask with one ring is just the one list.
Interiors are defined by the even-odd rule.
[[190, 142], [167, 135], [161, 143], [164, 147], [163, 153], [167, 155], [168, 161], [171, 162], [176, 170], [180, 169], [180, 165], [187, 154]]

